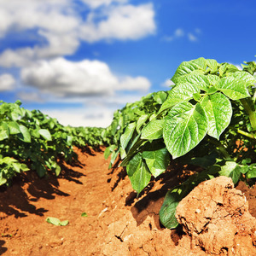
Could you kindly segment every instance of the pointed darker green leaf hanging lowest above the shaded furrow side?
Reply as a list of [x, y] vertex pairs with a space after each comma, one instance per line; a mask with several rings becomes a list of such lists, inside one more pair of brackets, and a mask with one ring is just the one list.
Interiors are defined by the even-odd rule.
[[141, 193], [151, 178], [151, 173], [148, 171], [141, 153], [134, 155], [128, 166], [126, 166], [126, 171], [131, 180], [132, 188], [137, 191], [137, 194]]

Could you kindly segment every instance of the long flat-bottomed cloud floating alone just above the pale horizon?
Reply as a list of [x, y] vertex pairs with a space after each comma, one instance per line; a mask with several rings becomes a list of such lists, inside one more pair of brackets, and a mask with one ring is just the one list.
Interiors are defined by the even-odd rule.
[[111, 95], [116, 90], [144, 90], [150, 87], [143, 77], [116, 77], [102, 61], [67, 61], [57, 58], [38, 61], [21, 70], [21, 80], [55, 96]]

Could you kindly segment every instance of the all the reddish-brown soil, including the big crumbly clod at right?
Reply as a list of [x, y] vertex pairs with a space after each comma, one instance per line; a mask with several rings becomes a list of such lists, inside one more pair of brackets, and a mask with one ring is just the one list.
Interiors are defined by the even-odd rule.
[[170, 166], [137, 198], [118, 162], [108, 170], [102, 150], [75, 151], [79, 161], [63, 163], [60, 177], [26, 172], [0, 189], [1, 255], [256, 255], [255, 188], [201, 183], [180, 204], [182, 225], [167, 230], [159, 221], [166, 192], [195, 170]]

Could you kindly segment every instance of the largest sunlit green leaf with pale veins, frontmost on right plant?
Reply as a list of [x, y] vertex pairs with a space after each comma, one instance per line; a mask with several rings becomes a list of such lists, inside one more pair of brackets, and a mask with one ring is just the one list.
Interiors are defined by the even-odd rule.
[[207, 115], [200, 103], [178, 103], [171, 109], [164, 125], [164, 141], [175, 159], [201, 142], [208, 130]]

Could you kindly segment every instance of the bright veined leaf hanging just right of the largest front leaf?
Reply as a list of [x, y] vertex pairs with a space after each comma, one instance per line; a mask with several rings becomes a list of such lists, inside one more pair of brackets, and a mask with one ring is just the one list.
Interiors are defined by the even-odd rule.
[[205, 96], [201, 102], [201, 107], [207, 113], [208, 135], [218, 139], [224, 129], [230, 125], [232, 116], [230, 100], [218, 92]]

